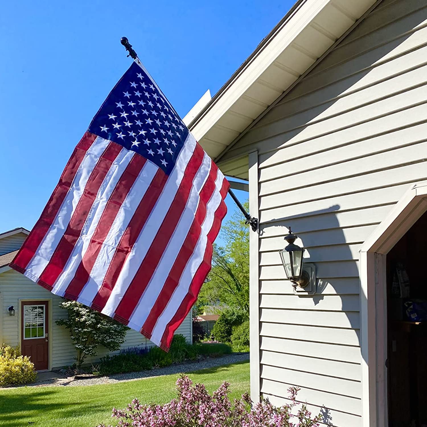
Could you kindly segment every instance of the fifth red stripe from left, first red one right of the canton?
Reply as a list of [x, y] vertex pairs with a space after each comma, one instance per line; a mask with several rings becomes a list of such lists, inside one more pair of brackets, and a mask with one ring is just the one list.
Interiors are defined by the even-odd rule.
[[196, 144], [190, 161], [185, 168], [184, 176], [179, 184], [175, 197], [167, 211], [163, 222], [157, 231], [157, 234], [144, 257], [138, 271], [132, 278], [129, 287], [127, 288], [122, 300], [117, 306], [114, 319], [121, 319], [122, 321], [129, 320], [135, 309], [138, 301], [143, 294], [151, 276], [153, 275], [158, 262], [169, 243], [170, 237], [178, 224], [185, 205], [187, 204], [188, 196], [193, 187], [193, 179], [202, 164], [203, 155], [205, 152], [199, 144]]

